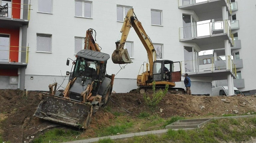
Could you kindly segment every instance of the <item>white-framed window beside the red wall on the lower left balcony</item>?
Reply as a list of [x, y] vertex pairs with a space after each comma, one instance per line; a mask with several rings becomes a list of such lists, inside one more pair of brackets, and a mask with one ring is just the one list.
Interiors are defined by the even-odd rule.
[[10, 35], [0, 34], [0, 61], [9, 61]]

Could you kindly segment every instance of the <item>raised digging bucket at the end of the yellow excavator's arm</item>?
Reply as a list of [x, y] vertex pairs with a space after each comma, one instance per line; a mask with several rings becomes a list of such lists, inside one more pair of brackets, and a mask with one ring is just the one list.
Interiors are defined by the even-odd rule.
[[130, 59], [127, 49], [122, 49], [121, 51], [118, 51], [119, 52], [116, 52], [116, 50], [114, 50], [112, 54], [112, 61], [114, 64], [133, 63], [133, 61]]

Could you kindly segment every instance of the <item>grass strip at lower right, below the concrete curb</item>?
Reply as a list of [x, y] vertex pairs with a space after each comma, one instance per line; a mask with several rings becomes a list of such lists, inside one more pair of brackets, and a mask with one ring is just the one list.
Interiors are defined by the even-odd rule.
[[[247, 122], [254, 125], [248, 128]], [[251, 137], [256, 137], [256, 118], [221, 119], [213, 120], [196, 130], [171, 130], [162, 135], [137, 136], [126, 140], [115, 140], [117, 143], [132, 142], [178, 142], [178, 143], [218, 143], [224, 142], [245, 142]]]

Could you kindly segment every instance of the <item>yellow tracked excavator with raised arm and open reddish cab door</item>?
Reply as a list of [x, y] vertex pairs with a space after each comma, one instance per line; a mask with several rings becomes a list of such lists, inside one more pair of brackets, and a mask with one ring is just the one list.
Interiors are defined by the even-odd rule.
[[[140, 41], [145, 47], [148, 55], [148, 63], [146, 63], [146, 71], [137, 76], [137, 91], [145, 93], [152, 90], [153, 81], [155, 81], [156, 89], [164, 89], [165, 85], [169, 85], [168, 92], [172, 94], [184, 94], [183, 88], [175, 87], [175, 82], [181, 81], [181, 65], [180, 62], [171, 60], [156, 60], [156, 50], [151, 39], [146, 34], [141, 22], [137, 19], [133, 8], [128, 10], [124, 19], [120, 35], [115, 42], [116, 50], [114, 50], [111, 59], [114, 64], [133, 63], [130, 59], [127, 49], [124, 49], [125, 41], [128, 37], [130, 28], [133, 27]], [[121, 36], [121, 38], [120, 38]], [[119, 40], [120, 39], [120, 40]], [[144, 64], [143, 64], [144, 65]], [[149, 67], [149, 68], [148, 68]], [[168, 70], [166, 70], [166, 68]]]

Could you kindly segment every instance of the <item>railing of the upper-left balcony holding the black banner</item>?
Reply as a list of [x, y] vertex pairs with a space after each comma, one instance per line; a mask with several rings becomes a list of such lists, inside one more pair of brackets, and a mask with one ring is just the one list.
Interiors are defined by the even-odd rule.
[[[11, 15], [9, 16], [9, 12], [8, 12], [8, 17], [6, 18], [12, 18], [13, 19], [13, 13], [12, 10], [13, 9], [20, 9], [21, 10], [28, 10], [28, 17], [20, 17], [20, 19], [24, 19], [24, 20], [30, 20], [30, 10], [31, 9], [31, 4], [19, 4], [19, 3], [12, 3], [12, 2], [6, 2], [8, 3], [8, 11], [11, 11]], [[24, 8], [24, 7], [28, 7], [28, 8]], [[20, 16], [20, 15], [19, 15]]]

